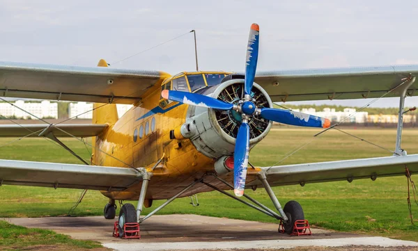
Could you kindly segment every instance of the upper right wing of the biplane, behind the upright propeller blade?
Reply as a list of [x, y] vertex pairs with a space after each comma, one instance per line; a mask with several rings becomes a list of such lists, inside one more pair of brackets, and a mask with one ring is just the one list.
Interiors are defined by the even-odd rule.
[[[418, 65], [258, 72], [254, 81], [273, 102], [362, 99], [381, 97], [410, 74], [418, 75]], [[410, 86], [408, 95], [417, 95], [417, 88], [418, 81]], [[396, 92], [385, 97], [394, 96], [398, 96]]]

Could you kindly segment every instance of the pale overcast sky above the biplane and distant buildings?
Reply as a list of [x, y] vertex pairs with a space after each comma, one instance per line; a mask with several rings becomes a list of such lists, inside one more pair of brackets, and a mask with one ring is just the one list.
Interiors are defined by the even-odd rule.
[[[0, 61], [94, 66], [104, 58], [111, 67], [176, 74], [195, 69], [188, 32], [196, 30], [200, 70], [242, 72], [256, 22], [258, 71], [418, 64], [417, 10], [418, 1], [0, 0]], [[408, 98], [406, 106], [417, 102]], [[398, 99], [373, 106], [398, 106]]]

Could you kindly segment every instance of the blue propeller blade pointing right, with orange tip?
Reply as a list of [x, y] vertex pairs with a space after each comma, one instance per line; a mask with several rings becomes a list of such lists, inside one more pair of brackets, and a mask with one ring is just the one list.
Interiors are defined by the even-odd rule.
[[282, 124], [291, 124], [299, 127], [328, 128], [331, 125], [330, 120], [327, 118], [320, 118], [306, 113], [283, 109], [261, 108], [260, 115], [266, 120], [272, 120]]

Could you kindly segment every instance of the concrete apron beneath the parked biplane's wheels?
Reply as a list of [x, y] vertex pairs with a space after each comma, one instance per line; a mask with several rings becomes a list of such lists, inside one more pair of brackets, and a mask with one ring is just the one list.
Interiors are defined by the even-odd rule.
[[153, 216], [141, 223], [140, 240], [111, 236], [115, 220], [94, 217], [5, 218], [15, 225], [51, 229], [72, 238], [100, 241], [115, 250], [214, 250], [294, 248], [298, 246], [418, 246], [412, 241], [364, 236], [311, 228], [311, 236], [277, 232], [278, 224], [196, 215]]

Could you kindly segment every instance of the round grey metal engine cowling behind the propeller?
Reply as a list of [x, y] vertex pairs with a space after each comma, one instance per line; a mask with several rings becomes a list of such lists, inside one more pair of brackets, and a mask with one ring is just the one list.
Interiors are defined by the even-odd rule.
[[[200, 91], [201, 95], [208, 95], [221, 99], [231, 104], [239, 104], [243, 91], [244, 80], [232, 79]], [[254, 83], [251, 97], [258, 108], [272, 108], [272, 101], [267, 92]], [[202, 154], [218, 159], [221, 156], [231, 155], [234, 152], [235, 138], [240, 126], [241, 116], [235, 111], [215, 111], [210, 108], [189, 106], [187, 110], [186, 124], [192, 125], [195, 131], [192, 143]], [[187, 127], [187, 126], [186, 126]], [[254, 147], [270, 131], [272, 122], [265, 120], [258, 115], [252, 116], [249, 121], [250, 147]]]

